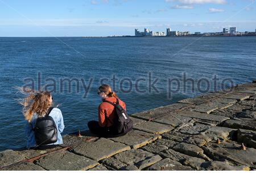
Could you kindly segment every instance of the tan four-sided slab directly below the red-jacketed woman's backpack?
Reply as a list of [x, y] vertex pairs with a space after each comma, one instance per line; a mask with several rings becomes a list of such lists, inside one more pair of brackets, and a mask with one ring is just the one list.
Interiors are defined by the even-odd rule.
[[131, 148], [139, 148], [160, 138], [162, 138], [161, 135], [154, 135], [143, 131], [131, 130], [129, 133], [122, 137], [109, 139], [112, 139], [115, 142], [125, 143]]

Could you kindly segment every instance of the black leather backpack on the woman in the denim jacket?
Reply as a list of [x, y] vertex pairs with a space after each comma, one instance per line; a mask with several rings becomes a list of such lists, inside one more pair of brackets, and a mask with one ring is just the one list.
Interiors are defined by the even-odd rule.
[[52, 109], [53, 107], [50, 107], [44, 117], [36, 119], [33, 130], [38, 146], [57, 142], [57, 127], [53, 118], [49, 116]]

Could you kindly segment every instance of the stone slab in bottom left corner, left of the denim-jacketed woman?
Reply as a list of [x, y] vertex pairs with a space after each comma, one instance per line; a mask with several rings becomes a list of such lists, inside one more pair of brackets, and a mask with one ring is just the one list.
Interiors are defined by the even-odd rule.
[[13, 150], [5, 150], [0, 152], [0, 168], [9, 166], [10, 164], [20, 162], [24, 160], [23, 155], [19, 155]]

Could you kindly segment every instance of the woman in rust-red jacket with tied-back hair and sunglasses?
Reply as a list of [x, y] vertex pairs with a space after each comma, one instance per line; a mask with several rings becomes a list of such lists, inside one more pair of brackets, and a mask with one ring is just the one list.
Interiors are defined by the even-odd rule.
[[108, 102], [116, 104], [117, 99], [119, 105], [126, 109], [125, 102], [121, 101], [117, 94], [115, 94], [109, 85], [103, 84], [98, 88], [98, 95], [103, 101], [98, 106], [98, 121], [88, 122], [88, 127], [92, 133], [100, 135], [102, 137], [119, 137], [125, 134], [117, 134], [113, 129], [114, 120], [117, 119], [117, 113], [115, 113], [115, 107]]

